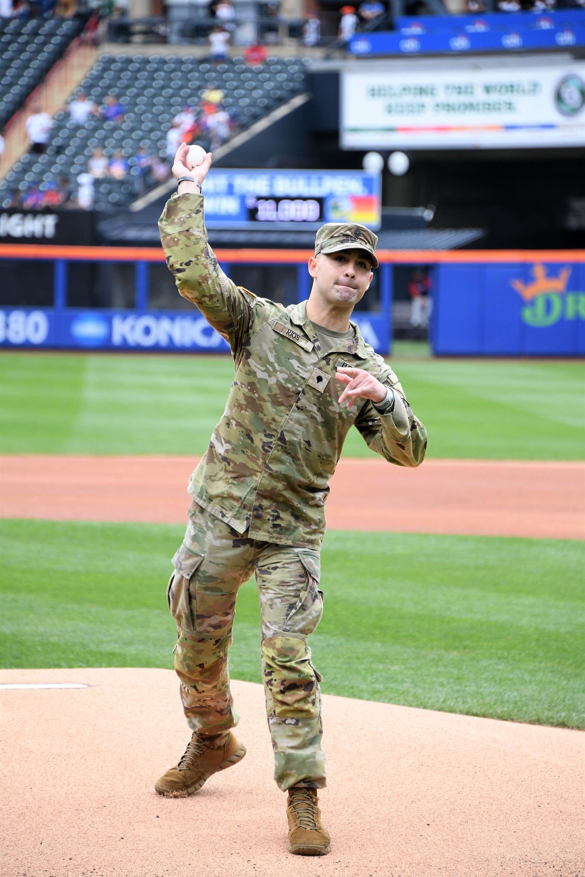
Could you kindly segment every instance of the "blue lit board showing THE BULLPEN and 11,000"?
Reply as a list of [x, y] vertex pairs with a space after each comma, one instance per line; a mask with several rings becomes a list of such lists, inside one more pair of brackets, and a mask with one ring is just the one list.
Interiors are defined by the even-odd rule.
[[305, 228], [324, 222], [381, 225], [381, 176], [366, 171], [221, 170], [203, 182], [208, 228]]

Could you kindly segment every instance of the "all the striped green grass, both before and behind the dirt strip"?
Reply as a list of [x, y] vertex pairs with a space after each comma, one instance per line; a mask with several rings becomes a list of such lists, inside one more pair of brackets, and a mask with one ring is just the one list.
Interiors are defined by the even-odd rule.
[[[566, 361], [392, 361], [429, 456], [585, 457], [585, 368]], [[424, 352], [423, 352], [424, 353]], [[4, 353], [2, 453], [201, 454], [226, 357]], [[351, 431], [344, 453], [370, 452]], [[165, 585], [182, 527], [0, 521], [2, 667], [172, 667]], [[585, 727], [585, 543], [328, 532], [326, 693]], [[259, 610], [241, 588], [232, 675], [260, 681]]]

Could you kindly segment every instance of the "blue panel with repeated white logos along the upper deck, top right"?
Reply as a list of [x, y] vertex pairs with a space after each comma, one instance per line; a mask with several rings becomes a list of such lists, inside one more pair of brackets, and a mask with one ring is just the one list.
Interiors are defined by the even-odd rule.
[[396, 31], [356, 33], [356, 55], [513, 51], [585, 45], [585, 10], [396, 18]]

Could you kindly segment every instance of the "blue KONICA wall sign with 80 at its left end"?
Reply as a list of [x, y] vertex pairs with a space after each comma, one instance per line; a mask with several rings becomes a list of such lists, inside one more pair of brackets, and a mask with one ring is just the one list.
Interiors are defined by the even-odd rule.
[[201, 316], [39, 308], [0, 310], [0, 345], [205, 353], [230, 349]]

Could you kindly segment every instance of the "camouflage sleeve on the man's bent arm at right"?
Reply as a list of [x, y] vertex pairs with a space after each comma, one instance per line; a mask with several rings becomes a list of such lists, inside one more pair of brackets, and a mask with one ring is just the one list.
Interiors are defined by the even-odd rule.
[[424, 425], [413, 414], [396, 374], [381, 356], [375, 359], [379, 368], [378, 380], [394, 390], [394, 410], [379, 414], [368, 401], [356, 417], [355, 426], [367, 446], [382, 454], [384, 460], [396, 466], [420, 466], [426, 453]]

